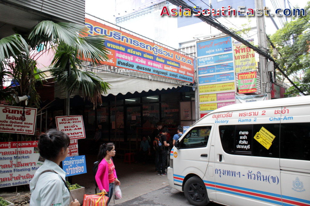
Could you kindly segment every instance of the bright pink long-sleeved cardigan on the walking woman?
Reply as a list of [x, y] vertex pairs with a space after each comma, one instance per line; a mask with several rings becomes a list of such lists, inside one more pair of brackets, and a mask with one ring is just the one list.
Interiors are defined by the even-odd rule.
[[[113, 162], [113, 161], [112, 161]], [[105, 159], [101, 160], [98, 165], [98, 170], [95, 175], [95, 180], [100, 190], [105, 189], [105, 191], [109, 191], [109, 169], [108, 162]], [[114, 178], [117, 178], [115, 169], [113, 170]]]

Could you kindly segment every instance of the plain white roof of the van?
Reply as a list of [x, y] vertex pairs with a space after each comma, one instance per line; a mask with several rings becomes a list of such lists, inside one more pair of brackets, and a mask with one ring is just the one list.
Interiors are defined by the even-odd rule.
[[[245, 110], [245, 109], [259, 109], [259, 108], [266, 108], [266, 107], [283, 107], [283, 106], [299, 105], [299, 104], [310, 104], [310, 95], [300, 96], [300, 97], [281, 98], [281, 99], [271, 99], [271, 100], [264, 100], [264, 101], [257, 101], [257, 102], [231, 104], [228, 106], [220, 107], [219, 109], [216, 109], [214, 111], [211, 111], [206, 116], [209, 116], [217, 112], [237, 111], [237, 110]], [[204, 117], [202, 117], [201, 119], [203, 119]], [[196, 124], [198, 123], [198, 121], [196, 122]]]

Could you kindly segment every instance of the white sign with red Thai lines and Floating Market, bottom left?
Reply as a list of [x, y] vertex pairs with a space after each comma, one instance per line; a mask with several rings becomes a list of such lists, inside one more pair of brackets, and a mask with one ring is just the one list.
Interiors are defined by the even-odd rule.
[[39, 158], [37, 141], [0, 142], [0, 187], [29, 184]]

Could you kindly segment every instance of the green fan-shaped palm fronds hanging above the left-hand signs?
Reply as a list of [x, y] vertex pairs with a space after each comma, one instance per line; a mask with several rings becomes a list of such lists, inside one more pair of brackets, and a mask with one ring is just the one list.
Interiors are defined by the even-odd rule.
[[[104, 36], [81, 37], [87, 28], [75, 23], [54, 23], [42, 21], [28, 35], [14, 34], [0, 40], [0, 99], [16, 105], [13, 95], [30, 96], [28, 107], [39, 107], [40, 97], [36, 88], [42, 86], [44, 73], [36, 65], [42, 53], [55, 50], [51, 74], [60, 86], [70, 92], [81, 90], [84, 97], [94, 104], [101, 103], [101, 94], [106, 93], [109, 84], [103, 82], [95, 73], [82, 71], [83, 60], [93, 65], [108, 59], [108, 50], [104, 46]], [[37, 49], [40, 48], [38, 52]], [[69, 64], [71, 63], [71, 65]], [[70, 66], [69, 78], [64, 74]], [[59, 74], [62, 74], [58, 76]], [[19, 85], [4, 88], [6, 79], [13, 79]], [[65, 79], [62, 79], [65, 78]], [[73, 88], [73, 85], [76, 86]], [[23, 106], [17, 104], [16, 106]]]

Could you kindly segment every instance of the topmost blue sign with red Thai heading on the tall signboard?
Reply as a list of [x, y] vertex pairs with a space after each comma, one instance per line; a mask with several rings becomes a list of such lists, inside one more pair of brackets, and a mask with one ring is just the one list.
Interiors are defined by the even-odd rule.
[[232, 38], [226, 36], [219, 39], [199, 42], [197, 44], [197, 57], [232, 51]]

